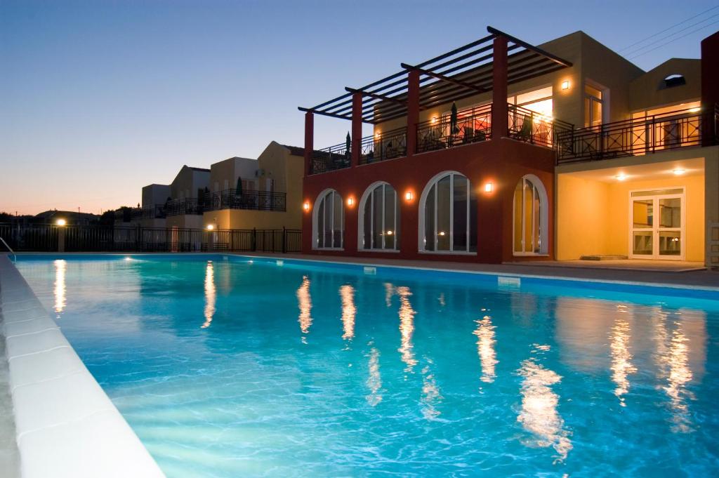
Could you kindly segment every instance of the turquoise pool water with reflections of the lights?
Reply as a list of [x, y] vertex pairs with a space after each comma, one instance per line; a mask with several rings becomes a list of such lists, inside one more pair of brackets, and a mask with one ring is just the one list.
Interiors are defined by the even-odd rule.
[[18, 267], [171, 478], [719, 469], [711, 295], [222, 256]]

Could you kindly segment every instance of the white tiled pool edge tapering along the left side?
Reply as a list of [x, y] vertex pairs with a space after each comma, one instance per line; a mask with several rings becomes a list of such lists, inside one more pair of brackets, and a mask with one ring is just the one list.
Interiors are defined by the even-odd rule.
[[22, 477], [164, 477], [5, 254], [0, 306]]

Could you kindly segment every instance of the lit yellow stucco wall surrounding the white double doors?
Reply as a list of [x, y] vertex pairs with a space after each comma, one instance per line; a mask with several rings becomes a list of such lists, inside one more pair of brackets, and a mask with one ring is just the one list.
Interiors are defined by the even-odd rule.
[[668, 187], [685, 188], [685, 259], [704, 261], [705, 176], [687, 175], [616, 183], [557, 177], [557, 259], [585, 254], [629, 254], [629, 192]]

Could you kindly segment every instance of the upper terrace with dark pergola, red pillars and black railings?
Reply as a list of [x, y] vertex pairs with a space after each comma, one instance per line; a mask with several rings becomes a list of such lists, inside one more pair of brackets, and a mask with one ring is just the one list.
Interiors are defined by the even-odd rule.
[[[510, 137], [544, 147], [554, 147], [558, 132], [571, 124], [502, 101], [419, 121], [421, 111], [454, 104], [481, 93], [507, 98], [508, 85], [572, 66], [516, 37], [487, 27], [487, 37], [443, 55], [408, 65], [362, 88], [312, 108], [299, 109], [305, 116], [306, 175], [341, 170], [423, 152], [446, 150], [464, 144]], [[352, 134], [344, 144], [313, 149], [313, 115], [352, 121]], [[406, 126], [394, 120], [406, 118]], [[362, 137], [362, 124], [374, 133]]]

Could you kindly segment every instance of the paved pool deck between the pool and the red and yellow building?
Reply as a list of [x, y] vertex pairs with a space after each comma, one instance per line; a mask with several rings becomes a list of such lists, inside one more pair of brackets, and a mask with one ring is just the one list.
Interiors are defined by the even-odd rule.
[[[652, 265], [649, 261], [531, 261], [511, 264], [472, 264], [469, 262], [449, 262], [438, 260], [406, 260], [391, 257], [338, 257], [316, 254], [271, 254], [267, 252], [246, 252], [242, 254], [224, 254], [254, 257], [276, 257], [278, 259], [301, 259], [313, 261], [344, 262], [347, 264], [385, 265], [390, 267], [414, 267], [428, 270], [457, 270], [464, 272], [483, 272], [498, 275], [519, 275], [525, 277], [562, 277], [596, 282], [645, 283], [678, 288], [702, 288], [719, 291], [719, 272], [702, 270], [696, 263], [692, 267], [664, 264]], [[649, 262], [649, 264], [647, 264]], [[684, 263], [686, 264], [686, 263]], [[609, 267], [613, 266], [613, 267]]]

